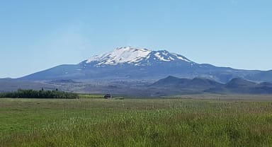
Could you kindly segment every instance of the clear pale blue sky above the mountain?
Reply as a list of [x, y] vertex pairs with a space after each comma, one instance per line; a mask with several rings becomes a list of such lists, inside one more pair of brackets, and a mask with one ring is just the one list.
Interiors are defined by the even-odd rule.
[[3, 0], [0, 78], [77, 64], [115, 47], [272, 69], [271, 0]]

